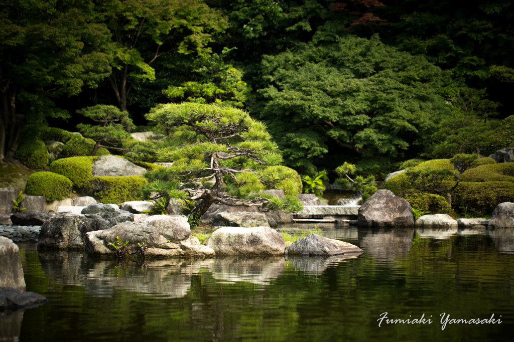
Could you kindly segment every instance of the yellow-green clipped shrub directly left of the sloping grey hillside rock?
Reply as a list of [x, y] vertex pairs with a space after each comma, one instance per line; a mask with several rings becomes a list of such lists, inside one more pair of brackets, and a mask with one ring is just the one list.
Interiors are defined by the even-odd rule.
[[95, 157], [70, 157], [58, 159], [50, 164], [50, 172], [65, 176], [75, 188], [88, 187], [93, 180], [91, 167]]

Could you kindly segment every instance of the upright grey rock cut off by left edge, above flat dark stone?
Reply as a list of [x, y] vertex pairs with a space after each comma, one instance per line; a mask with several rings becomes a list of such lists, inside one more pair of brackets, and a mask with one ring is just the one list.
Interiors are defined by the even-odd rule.
[[10, 239], [0, 236], [0, 287], [25, 291], [20, 249]]

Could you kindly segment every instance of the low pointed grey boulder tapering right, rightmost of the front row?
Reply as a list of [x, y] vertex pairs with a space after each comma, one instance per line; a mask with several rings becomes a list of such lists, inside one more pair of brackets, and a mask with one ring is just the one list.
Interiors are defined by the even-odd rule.
[[332, 256], [364, 251], [348, 242], [328, 239], [318, 234], [310, 234], [293, 242], [285, 250], [286, 255]]

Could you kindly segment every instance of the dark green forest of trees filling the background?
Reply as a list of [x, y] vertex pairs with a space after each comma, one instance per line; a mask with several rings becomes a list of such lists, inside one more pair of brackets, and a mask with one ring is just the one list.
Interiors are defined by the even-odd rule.
[[513, 19], [503, 0], [6, 0], [0, 160], [42, 127], [101, 126], [90, 106], [146, 131], [182, 102], [247, 110], [301, 174], [488, 156], [514, 146]]

